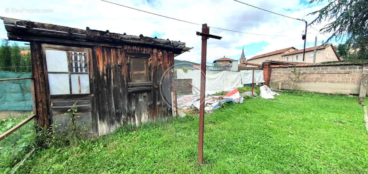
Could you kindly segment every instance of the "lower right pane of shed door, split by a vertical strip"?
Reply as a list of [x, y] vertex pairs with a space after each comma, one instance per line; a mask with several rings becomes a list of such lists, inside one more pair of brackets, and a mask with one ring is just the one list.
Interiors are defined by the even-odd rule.
[[[79, 79], [78, 79], [79, 76]], [[86, 94], [89, 93], [89, 75], [88, 74], [71, 74], [71, 93]], [[79, 82], [81, 84], [81, 92], [79, 92]]]

